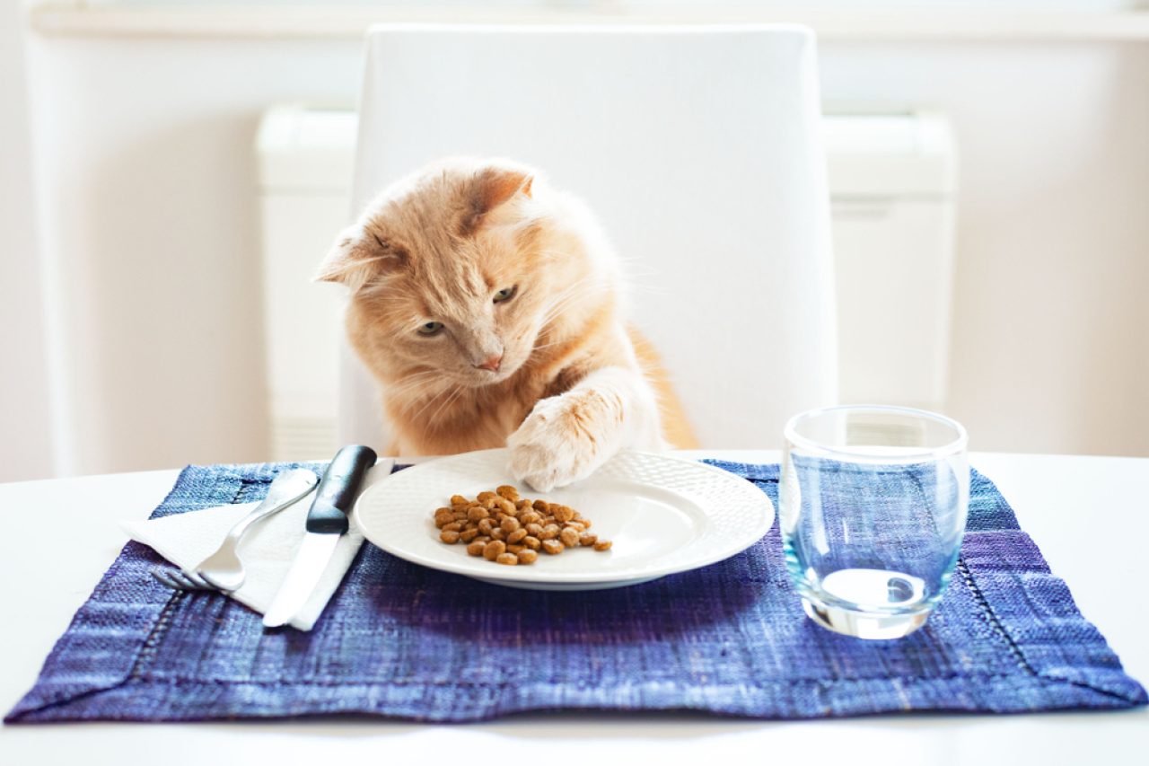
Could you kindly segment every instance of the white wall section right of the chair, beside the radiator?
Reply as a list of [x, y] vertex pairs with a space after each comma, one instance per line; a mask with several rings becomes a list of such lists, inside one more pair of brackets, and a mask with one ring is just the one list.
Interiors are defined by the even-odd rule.
[[1149, 455], [1149, 44], [827, 45], [822, 75], [953, 120], [972, 447]]

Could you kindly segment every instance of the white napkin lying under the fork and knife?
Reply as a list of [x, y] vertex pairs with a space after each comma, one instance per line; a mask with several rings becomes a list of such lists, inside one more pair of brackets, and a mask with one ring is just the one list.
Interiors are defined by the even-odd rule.
[[[363, 491], [388, 476], [393, 465], [393, 460], [380, 460], [371, 468], [364, 480]], [[246, 577], [242, 588], [229, 596], [260, 614], [267, 612], [287, 576], [295, 551], [303, 542], [307, 512], [314, 498], [315, 492], [311, 492], [283, 511], [255, 522], [247, 530], [239, 544], [239, 558], [244, 562]], [[191, 569], [214, 553], [228, 536], [228, 530], [256, 505], [259, 503], [218, 505], [162, 519], [122, 521], [121, 527], [132, 539], [152, 547], [180, 569]], [[350, 529], [336, 545], [336, 552], [311, 597], [288, 625], [300, 630], [310, 630], [315, 626], [362, 544], [363, 534], [353, 520]]]

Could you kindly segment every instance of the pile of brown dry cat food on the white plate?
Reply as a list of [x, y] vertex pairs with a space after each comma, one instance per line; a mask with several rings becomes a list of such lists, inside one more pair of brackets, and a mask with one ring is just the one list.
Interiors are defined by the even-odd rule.
[[519, 498], [507, 484], [473, 500], [452, 495], [450, 507], [435, 510], [434, 526], [444, 543], [462, 543], [468, 554], [507, 566], [534, 564], [539, 551], [557, 556], [570, 547], [610, 550], [610, 541], [589, 531], [591, 520], [574, 508]]

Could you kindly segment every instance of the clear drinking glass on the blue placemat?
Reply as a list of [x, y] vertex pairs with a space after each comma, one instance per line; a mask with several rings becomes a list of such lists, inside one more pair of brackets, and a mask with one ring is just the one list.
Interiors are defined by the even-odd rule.
[[965, 530], [966, 442], [957, 421], [907, 407], [826, 407], [786, 423], [778, 515], [810, 619], [858, 638], [925, 623]]

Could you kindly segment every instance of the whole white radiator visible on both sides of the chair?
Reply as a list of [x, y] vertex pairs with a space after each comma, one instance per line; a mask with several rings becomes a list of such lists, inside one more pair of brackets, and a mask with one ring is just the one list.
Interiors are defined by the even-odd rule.
[[[940, 409], [956, 155], [938, 114], [827, 115], [843, 401]], [[269, 109], [256, 138], [271, 458], [332, 454], [341, 290], [310, 281], [352, 217], [356, 116]]]

